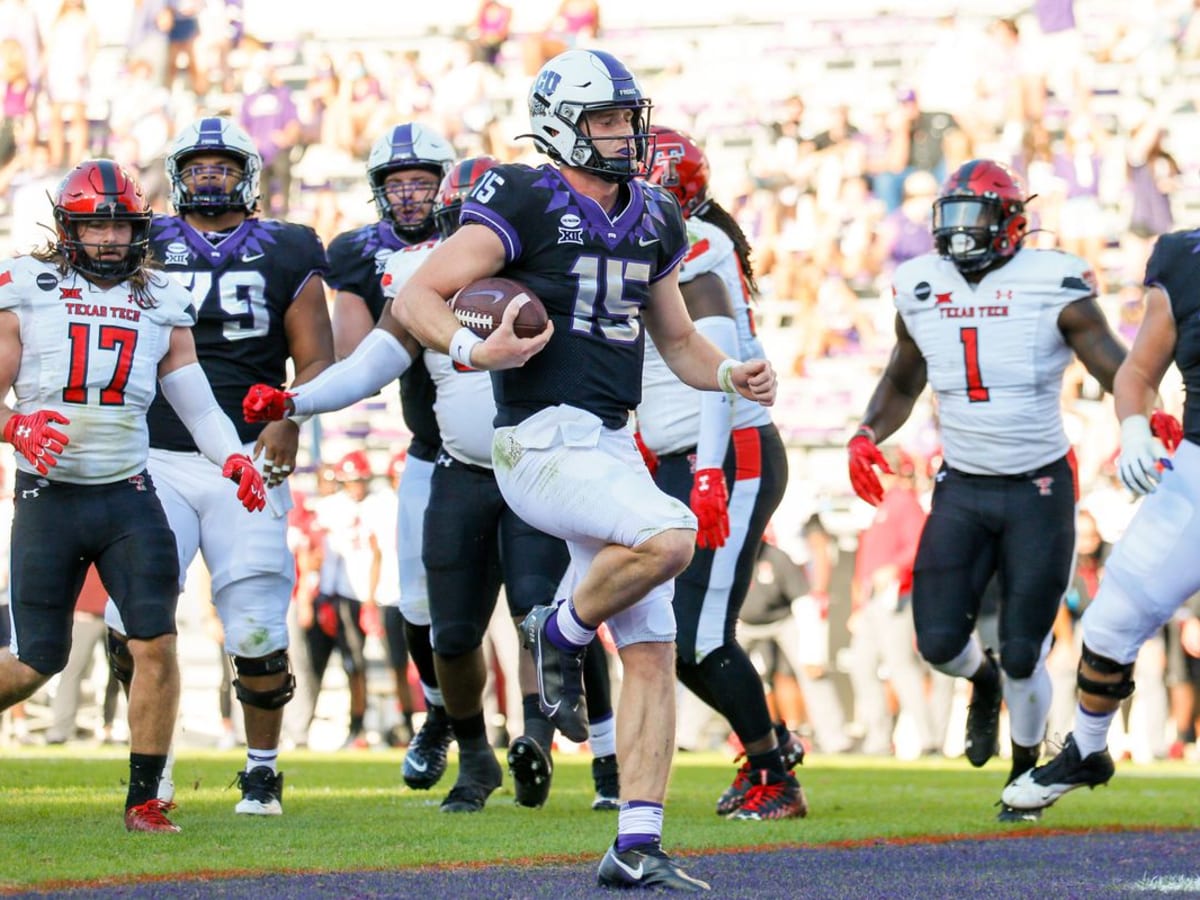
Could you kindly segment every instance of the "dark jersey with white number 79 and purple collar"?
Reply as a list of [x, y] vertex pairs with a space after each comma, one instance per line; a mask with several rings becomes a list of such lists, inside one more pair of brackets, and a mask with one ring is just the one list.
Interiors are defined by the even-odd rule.
[[[155, 216], [150, 247], [167, 274], [192, 292], [196, 353], [217, 403], [244, 442], [257, 439], [264, 424], [246, 422], [241, 401], [252, 384], [287, 380], [283, 317], [308, 277], [328, 271], [320, 238], [307, 226], [247, 218], [211, 244], [181, 217]], [[150, 446], [196, 450], [161, 391], [146, 418]]]

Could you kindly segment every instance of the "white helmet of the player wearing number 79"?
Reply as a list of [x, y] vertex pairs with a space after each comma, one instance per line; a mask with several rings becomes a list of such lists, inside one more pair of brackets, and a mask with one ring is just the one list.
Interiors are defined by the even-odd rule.
[[[235, 160], [242, 168], [241, 180], [232, 191], [191, 190], [184, 184], [184, 169], [190, 156], [221, 154]], [[258, 205], [258, 180], [263, 157], [250, 134], [232, 119], [210, 115], [186, 126], [167, 154], [167, 180], [170, 184], [170, 204], [176, 212], [217, 215], [229, 210], [247, 214]], [[212, 185], [212, 187], [218, 187]]]

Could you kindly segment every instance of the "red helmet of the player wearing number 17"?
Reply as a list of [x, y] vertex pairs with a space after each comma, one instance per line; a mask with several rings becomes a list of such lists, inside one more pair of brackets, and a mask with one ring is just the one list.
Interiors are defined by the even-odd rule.
[[[132, 234], [120, 259], [97, 259], [79, 240], [83, 222], [128, 222]], [[145, 260], [150, 246], [150, 204], [133, 178], [112, 160], [85, 160], [67, 173], [54, 194], [54, 223], [58, 227], [59, 252], [67, 263], [83, 272], [106, 281], [121, 281], [133, 275]], [[112, 250], [112, 247], [107, 247]]]

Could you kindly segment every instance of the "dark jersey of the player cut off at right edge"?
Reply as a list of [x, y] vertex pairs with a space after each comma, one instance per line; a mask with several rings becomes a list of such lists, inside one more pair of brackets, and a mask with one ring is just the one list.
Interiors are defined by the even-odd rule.
[[1183, 434], [1200, 444], [1200, 230], [1164, 234], [1146, 263], [1146, 284], [1160, 287], [1175, 314], [1175, 365], [1183, 376]]

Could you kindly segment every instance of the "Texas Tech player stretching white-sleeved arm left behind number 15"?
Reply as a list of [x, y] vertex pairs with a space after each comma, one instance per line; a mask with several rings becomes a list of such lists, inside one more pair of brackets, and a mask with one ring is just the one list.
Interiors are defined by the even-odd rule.
[[[457, 229], [463, 198], [496, 164], [492, 157], [474, 157], [451, 168], [434, 205], [438, 230], [443, 235]], [[386, 305], [438, 244], [439, 239], [432, 239], [404, 247], [388, 259], [382, 280]], [[421, 367], [436, 386], [433, 410], [443, 442], [430, 480], [430, 502], [420, 508], [426, 538], [424, 570], [433, 598], [428, 604], [433, 659], [444, 698], [444, 710], [439, 714], [446, 716], [460, 752], [458, 780], [443, 800], [442, 810], [478, 812], [499, 787], [502, 778], [487, 743], [482, 707], [486, 683], [482, 641], [499, 586], [503, 581], [510, 612], [521, 622], [539, 600], [553, 600], [568, 565], [566, 545], [517, 518], [499, 493], [492, 475], [496, 401], [491, 377], [455, 364], [443, 353], [421, 353], [397, 319], [388, 314], [380, 317], [379, 324], [348, 359], [308, 384], [294, 391], [270, 385], [252, 388], [244, 413], [248, 420], [260, 421], [294, 415], [298, 410], [308, 414], [338, 409], [410, 372], [414, 359], [422, 360]], [[612, 707], [607, 701], [607, 670], [602, 668], [606, 665], [604, 649], [598, 647], [588, 674], [589, 686], [594, 686], [599, 696], [592, 700], [589, 708], [610, 722], [611, 736]], [[509, 766], [516, 781], [517, 803], [536, 808], [545, 804], [550, 793], [553, 774], [550, 748], [554, 726], [536, 706], [536, 676], [528, 658], [522, 660], [520, 680], [527, 692], [526, 731], [510, 748]], [[604, 754], [602, 740], [604, 734], [589, 733], [594, 752]], [[436, 757], [421, 760], [426, 761], [431, 768], [433, 764], [438, 768], [430, 773], [432, 778], [426, 782], [418, 782], [415, 775], [426, 769], [410, 773], [413, 761], [407, 758], [404, 780], [410, 787], [431, 787], [436, 782], [445, 769], [444, 748]], [[616, 779], [616, 760], [606, 764], [611, 778]], [[596, 768], [593, 767], [594, 773]], [[598, 778], [598, 793], [601, 787], [602, 781]]]

